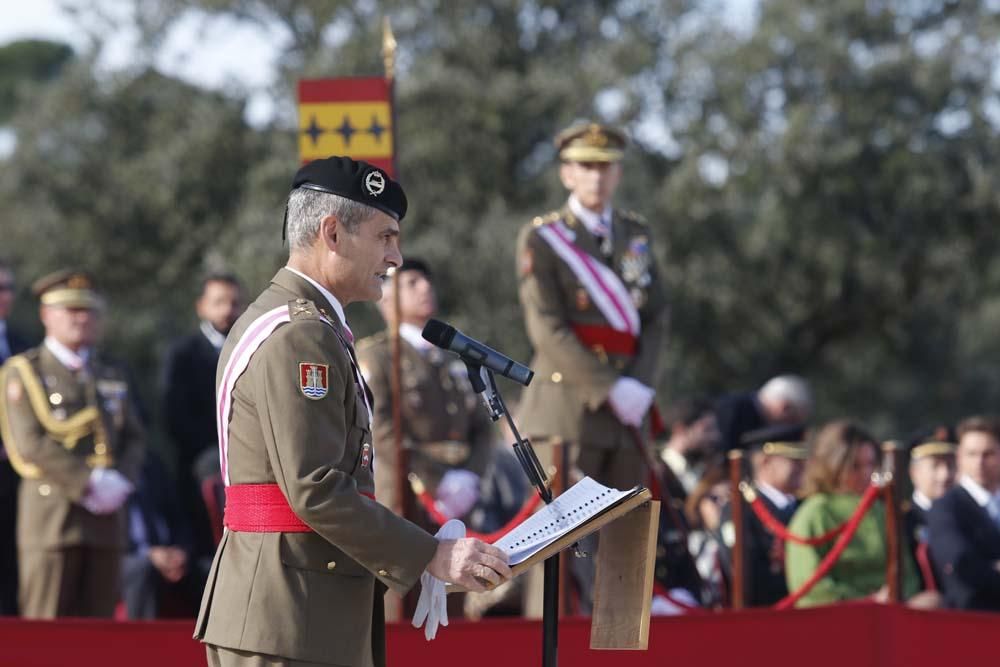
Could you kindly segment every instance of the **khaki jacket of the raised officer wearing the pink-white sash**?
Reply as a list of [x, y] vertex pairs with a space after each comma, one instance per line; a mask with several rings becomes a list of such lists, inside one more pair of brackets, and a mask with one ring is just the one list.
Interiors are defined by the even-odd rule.
[[[585, 347], [574, 333], [574, 324], [606, 325], [607, 320], [569, 266], [537, 233], [542, 225], [558, 220], [575, 234], [579, 248], [610, 266], [632, 293], [642, 323], [634, 357]], [[622, 446], [627, 431], [606, 404], [611, 387], [622, 376], [657, 385], [668, 309], [650, 230], [638, 216], [616, 209], [612, 239], [609, 261], [568, 207], [535, 218], [518, 236], [521, 305], [535, 348], [531, 362], [535, 379], [522, 394], [519, 413], [528, 437], [600, 448]]]

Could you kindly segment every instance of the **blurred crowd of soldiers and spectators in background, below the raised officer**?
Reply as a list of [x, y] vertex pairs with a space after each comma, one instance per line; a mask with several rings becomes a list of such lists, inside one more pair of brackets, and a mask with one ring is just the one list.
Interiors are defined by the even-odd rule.
[[[403, 444], [409, 450], [408, 476], [429, 493], [418, 496], [407, 485], [401, 503], [392, 457], [384, 456], [385, 464], [377, 468], [379, 499], [432, 531], [441, 516], [462, 518], [476, 531], [496, 531], [532, 491], [510, 452], [509, 434], [490, 423], [464, 365], [419, 335], [420, 323], [437, 309], [430, 268], [408, 260], [398, 274], [400, 336], [406, 343], [399, 400], [423, 416], [408, 422]], [[6, 326], [14, 287], [11, 265], [0, 264], [0, 360], [8, 362], [0, 411], [3, 613], [193, 616], [223, 530], [215, 375], [226, 334], [245, 304], [240, 283], [230, 275], [204, 280], [195, 300], [197, 329], [171, 345], [163, 361], [163, 421], [156, 425], [143, 424], [129, 405], [134, 395], [127, 371], [98, 352], [106, 304], [86, 274], [59, 272], [35, 283], [46, 335], [35, 347]], [[393, 303], [388, 289], [381, 303], [387, 322], [395, 317]], [[375, 393], [391, 396], [388, 333], [358, 348]], [[62, 362], [64, 370], [54, 370]], [[74, 364], [75, 375], [65, 370]], [[37, 389], [29, 377], [33, 370]], [[27, 406], [26, 414], [45, 412], [59, 424], [77, 419], [90, 403], [85, 397], [74, 403], [74, 388], [61, 372], [84, 389], [92, 387], [106, 410], [93, 428], [80, 426], [75, 436], [66, 436], [93, 442], [91, 458], [79, 463], [82, 482], [64, 462], [52, 463], [57, 472], [32, 469], [32, 461], [55, 462], [58, 452], [51, 451], [51, 442], [32, 443], [32, 431], [19, 416]], [[654, 613], [733, 606], [737, 532], [742, 604], [773, 606], [785, 599], [812, 577], [833, 545], [810, 541], [851, 519], [889, 456], [899, 486], [893, 511], [879, 496], [835, 564], [795, 605], [887, 601], [888, 540], [898, 524], [901, 596], [907, 604], [1000, 610], [1000, 420], [970, 416], [955, 425], [929, 424], [889, 446], [854, 421], [813, 423], [812, 395], [806, 380], [786, 375], [753, 391], [670, 403], [666, 431], [650, 446], [655, 483], [669, 505], [661, 515]], [[386, 452], [393, 445], [391, 401], [382, 404], [375, 437]], [[145, 444], [145, 433], [154, 426], [169, 436], [162, 455]], [[132, 444], [114, 445], [119, 459], [95, 465], [92, 457], [105, 451], [102, 443], [116, 442]], [[543, 458], [545, 448], [539, 447]], [[899, 454], [891, 454], [894, 450]], [[742, 466], [746, 501], [731, 493], [734, 457]], [[566, 471], [567, 483], [575, 469], [571, 464]], [[70, 509], [54, 509], [59, 496], [65, 496], [64, 505], [69, 500]], [[801, 539], [775, 535], [747, 504], [754, 497]], [[736, 502], [743, 503], [740, 531], [733, 523]], [[99, 523], [108, 517], [114, 519], [110, 529]], [[108, 530], [114, 534], [105, 534]], [[59, 572], [57, 579], [53, 571]], [[569, 612], [587, 610], [585, 577], [573, 572]], [[537, 615], [536, 598], [530, 578], [519, 579], [491, 593], [455, 596], [453, 611], [469, 618]]]

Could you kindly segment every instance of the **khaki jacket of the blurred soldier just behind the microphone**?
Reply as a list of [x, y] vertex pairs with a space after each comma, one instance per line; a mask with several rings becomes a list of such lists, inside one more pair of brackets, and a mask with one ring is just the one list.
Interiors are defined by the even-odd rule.
[[[482, 400], [469, 382], [465, 364], [437, 348], [421, 353], [400, 339], [403, 446], [410, 470], [431, 494], [454, 468], [482, 476], [490, 462], [495, 431]], [[380, 332], [358, 343], [361, 369], [379, 397], [375, 405], [375, 469], [379, 502], [396, 503], [396, 456], [392, 423], [392, 341]], [[443, 444], [442, 444], [443, 443]]]

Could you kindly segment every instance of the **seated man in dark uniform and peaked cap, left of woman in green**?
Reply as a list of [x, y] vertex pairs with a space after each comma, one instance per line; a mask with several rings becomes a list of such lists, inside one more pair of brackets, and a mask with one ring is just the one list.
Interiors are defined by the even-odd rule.
[[[805, 428], [794, 424], [765, 426], [745, 433], [741, 444], [750, 452], [753, 490], [771, 516], [784, 525], [799, 506], [796, 497], [809, 449], [803, 442]], [[722, 511], [722, 562], [732, 563], [736, 531], [731, 498]], [[785, 543], [764, 527], [753, 509], [743, 510], [744, 602], [748, 607], [773, 605], [788, 595], [785, 581]]]

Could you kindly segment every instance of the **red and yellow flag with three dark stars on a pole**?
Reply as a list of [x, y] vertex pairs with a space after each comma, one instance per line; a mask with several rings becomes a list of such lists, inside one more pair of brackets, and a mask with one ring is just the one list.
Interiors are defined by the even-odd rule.
[[302, 162], [349, 155], [393, 176], [391, 86], [378, 77], [299, 81]]

